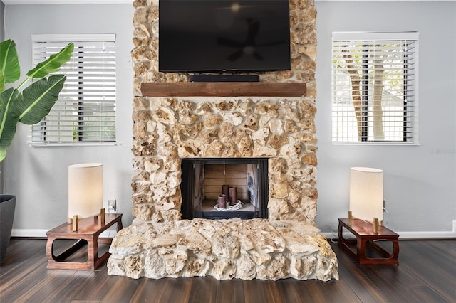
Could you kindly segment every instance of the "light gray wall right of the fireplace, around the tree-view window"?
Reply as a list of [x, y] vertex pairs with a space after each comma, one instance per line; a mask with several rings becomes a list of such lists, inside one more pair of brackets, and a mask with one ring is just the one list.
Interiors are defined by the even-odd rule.
[[[417, 236], [451, 231], [456, 220], [456, 2], [316, 1], [316, 9], [318, 227], [334, 230], [337, 218], [346, 218], [350, 167], [371, 166], [384, 170], [390, 228]], [[419, 146], [331, 144], [333, 31], [419, 31]]]

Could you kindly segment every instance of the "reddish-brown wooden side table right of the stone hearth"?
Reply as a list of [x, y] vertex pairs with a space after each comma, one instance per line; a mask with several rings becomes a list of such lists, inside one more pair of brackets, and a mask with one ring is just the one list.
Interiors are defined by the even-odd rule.
[[[399, 255], [399, 235], [393, 230], [385, 228], [384, 226], [378, 227], [378, 234], [373, 233], [373, 225], [360, 219], [353, 219], [353, 223], [348, 225], [348, 219], [338, 219], [338, 243], [348, 255], [351, 255], [361, 265], [398, 265]], [[343, 238], [343, 228], [353, 233], [356, 239]], [[374, 240], [389, 240], [393, 243], [393, 253], [381, 248], [380, 245], [375, 243]], [[349, 245], [353, 246], [356, 243], [356, 252], [354, 252]], [[367, 257], [366, 246], [373, 248], [382, 257]]]

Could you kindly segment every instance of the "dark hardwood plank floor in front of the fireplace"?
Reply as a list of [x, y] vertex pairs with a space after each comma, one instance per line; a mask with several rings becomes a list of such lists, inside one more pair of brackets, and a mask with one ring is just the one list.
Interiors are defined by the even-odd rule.
[[456, 240], [400, 240], [399, 265], [357, 265], [331, 243], [340, 280], [132, 280], [46, 270], [46, 240], [11, 239], [0, 302], [456, 302]]

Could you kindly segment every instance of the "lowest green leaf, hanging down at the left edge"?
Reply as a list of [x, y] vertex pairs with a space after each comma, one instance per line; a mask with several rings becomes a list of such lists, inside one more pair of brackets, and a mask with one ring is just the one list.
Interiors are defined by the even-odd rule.
[[19, 115], [11, 111], [12, 105], [20, 103], [22, 94], [15, 88], [10, 88], [0, 94], [0, 150], [6, 149], [11, 144], [14, 134], [16, 134], [16, 124]]

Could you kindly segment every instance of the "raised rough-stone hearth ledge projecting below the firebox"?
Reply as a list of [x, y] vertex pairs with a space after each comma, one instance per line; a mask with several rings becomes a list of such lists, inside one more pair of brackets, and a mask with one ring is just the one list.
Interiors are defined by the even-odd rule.
[[296, 221], [133, 220], [110, 246], [108, 275], [217, 280], [338, 280], [338, 262], [314, 224]]

